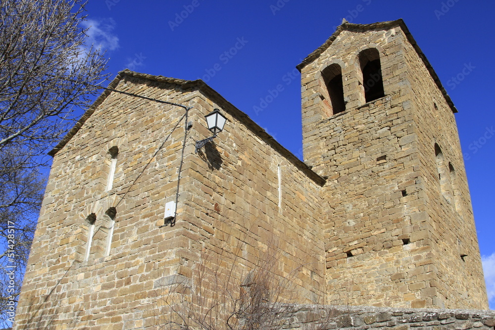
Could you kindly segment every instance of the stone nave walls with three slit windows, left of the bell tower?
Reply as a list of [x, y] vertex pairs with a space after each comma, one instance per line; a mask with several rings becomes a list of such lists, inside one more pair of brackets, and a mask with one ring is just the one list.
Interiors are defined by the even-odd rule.
[[[324, 302], [324, 180], [310, 179], [302, 162], [257, 136], [261, 129], [236, 119], [229, 112], [240, 111], [221, 97], [214, 103], [197, 90], [129, 75], [116, 89], [194, 106], [176, 223], [161, 227], [177, 192], [185, 110], [111, 93], [54, 156], [14, 329], [159, 326], [170, 285], [193, 278], [202, 257], [221, 272], [234, 265], [238, 280], [271, 240], [280, 248], [273, 272], [294, 274], [297, 301]], [[195, 154], [195, 141], [210, 136], [203, 116], [213, 107], [225, 107], [229, 123]]]

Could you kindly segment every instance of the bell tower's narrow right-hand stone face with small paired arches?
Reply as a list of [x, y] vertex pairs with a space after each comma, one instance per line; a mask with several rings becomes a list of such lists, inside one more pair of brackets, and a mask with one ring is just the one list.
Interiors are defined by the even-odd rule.
[[[424, 215], [432, 227], [440, 307], [488, 308], [471, 198], [452, 109], [410, 44], [404, 55], [413, 93], [421, 177], [427, 194]], [[469, 111], [469, 109], [460, 109]], [[435, 157], [435, 143], [442, 162]], [[449, 164], [451, 168], [449, 168]], [[453, 171], [452, 171], [453, 170]], [[439, 178], [439, 176], [441, 178]]]

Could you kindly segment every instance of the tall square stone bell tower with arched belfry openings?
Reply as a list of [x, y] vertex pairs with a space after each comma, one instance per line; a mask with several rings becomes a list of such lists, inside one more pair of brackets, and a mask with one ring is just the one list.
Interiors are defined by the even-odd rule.
[[457, 110], [404, 22], [344, 22], [297, 68], [328, 303], [487, 309]]

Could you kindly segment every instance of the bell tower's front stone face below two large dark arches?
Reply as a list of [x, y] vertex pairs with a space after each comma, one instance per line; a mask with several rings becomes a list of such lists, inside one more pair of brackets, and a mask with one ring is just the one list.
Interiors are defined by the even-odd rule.
[[[437, 306], [403, 43], [395, 30], [344, 31], [301, 72], [304, 159], [328, 176], [328, 301], [337, 304]], [[368, 47], [380, 51], [386, 96], [363, 104], [357, 57]], [[347, 111], [324, 118], [320, 72], [331, 63], [343, 67]]]

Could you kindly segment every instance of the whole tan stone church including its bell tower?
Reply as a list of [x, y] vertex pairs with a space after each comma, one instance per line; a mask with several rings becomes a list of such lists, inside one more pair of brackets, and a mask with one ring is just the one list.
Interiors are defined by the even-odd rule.
[[14, 329], [148, 328], [158, 286], [274, 239], [298, 303], [488, 309], [457, 109], [404, 22], [297, 69], [304, 161], [201, 80], [120, 72], [49, 153]]

